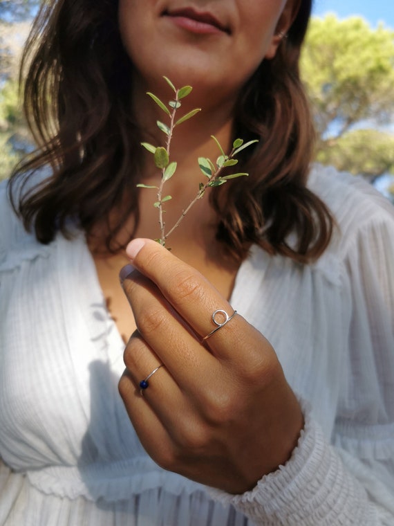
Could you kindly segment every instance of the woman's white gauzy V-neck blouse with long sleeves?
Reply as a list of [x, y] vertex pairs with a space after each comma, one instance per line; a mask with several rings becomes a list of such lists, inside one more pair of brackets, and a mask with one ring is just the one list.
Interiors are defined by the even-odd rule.
[[0, 185], [0, 525], [394, 525], [394, 208], [332, 168], [309, 186], [337, 219], [326, 252], [305, 266], [254, 247], [231, 299], [306, 426], [284, 466], [231, 496], [144, 452], [84, 235], [37, 243]]

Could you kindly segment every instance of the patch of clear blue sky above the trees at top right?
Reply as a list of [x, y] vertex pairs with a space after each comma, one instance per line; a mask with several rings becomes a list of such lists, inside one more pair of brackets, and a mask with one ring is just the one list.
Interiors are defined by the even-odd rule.
[[393, 0], [315, 0], [313, 12], [321, 17], [335, 12], [339, 18], [361, 15], [375, 27], [379, 21], [394, 29]]

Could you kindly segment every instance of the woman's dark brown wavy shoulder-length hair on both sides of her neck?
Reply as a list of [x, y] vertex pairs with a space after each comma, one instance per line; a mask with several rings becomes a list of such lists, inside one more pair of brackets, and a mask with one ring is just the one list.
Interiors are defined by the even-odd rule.
[[[330, 211], [306, 188], [314, 129], [299, 54], [311, 3], [301, 1], [276, 56], [262, 62], [237, 102], [234, 136], [259, 139], [240, 159], [250, 176], [210, 192], [221, 218], [217, 237], [237, 259], [256, 243], [270, 254], [309, 262], [332, 235]], [[44, 2], [21, 71], [26, 64], [24, 110], [38, 147], [10, 178], [12, 203], [44, 244], [58, 231], [71, 235], [70, 224], [89, 234], [106, 218], [106, 246], [114, 251], [131, 214], [138, 225], [141, 171], [141, 134], [129, 100], [133, 66], [120, 40], [118, 2]], [[30, 178], [45, 165], [50, 176], [32, 186]], [[113, 210], [121, 212], [110, 225]]]

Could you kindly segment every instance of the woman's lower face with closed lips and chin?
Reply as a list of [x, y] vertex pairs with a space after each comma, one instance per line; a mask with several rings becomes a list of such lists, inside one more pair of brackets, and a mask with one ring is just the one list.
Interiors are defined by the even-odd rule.
[[237, 93], [261, 61], [272, 58], [297, 0], [120, 0], [120, 33], [149, 89], [167, 75]]

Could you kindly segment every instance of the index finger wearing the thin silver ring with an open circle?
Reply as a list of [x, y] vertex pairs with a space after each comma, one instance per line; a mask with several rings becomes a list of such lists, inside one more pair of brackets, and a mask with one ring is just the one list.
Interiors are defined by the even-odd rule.
[[[201, 336], [201, 340], [218, 328], [218, 323], [225, 321], [225, 315], [215, 311], [225, 311], [230, 317], [234, 309], [221, 293], [194, 267], [182, 262], [171, 252], [151, 239], [133, 239], [126, 248], [126, 254], [138, 271], [152, 280], [167, 301], [173, 306], [190, 327]], [[226, 324], [233, 336], [238, 334], [240, 316], [235, 316], [231, 323]], [[238, 323], [235, 323], [238, 322]], [[221, 334], [217, 331], [209, 338], [209, 347], [216, 343], [220, 345]], [[227, 333], [227, 331], [226, 331]], [[226, 334], [228, 342], [231, 335]]]

